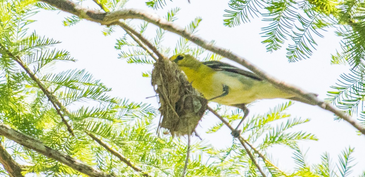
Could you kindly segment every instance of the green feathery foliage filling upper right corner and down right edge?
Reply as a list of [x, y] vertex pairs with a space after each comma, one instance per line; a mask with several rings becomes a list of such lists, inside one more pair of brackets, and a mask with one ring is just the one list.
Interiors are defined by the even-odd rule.
[[[365, 16], [363, 1], [355, 0], [230, 0], [224, 24], [229, 27], [263, 16], [262, 28], [266, 50], [273, 52], [285, 46], [289, 62], [308, 59], [327, 30], [342, 38], [341, 49], [332, 55], [331, 63], [349, 64], [351, 74], [342, 74], [328, 92], [328, 100], [338, 108], [356, 115], [363, 110], [363, 73], [365, 58]], [[266, 11], [266, 12], [265, 12]]]

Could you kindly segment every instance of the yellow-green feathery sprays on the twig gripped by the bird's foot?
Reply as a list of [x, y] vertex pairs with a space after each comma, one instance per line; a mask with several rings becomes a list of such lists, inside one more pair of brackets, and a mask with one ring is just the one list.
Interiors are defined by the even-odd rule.
[[[261, 151], [266, 151], [269, 147], [274, 145], [284, 145], [295, 150], [297, 142], [299, 141], [317, 141], [318, 138], [311, 133], [290, 131], [291, 128], [309, 121], [309, 119], [291, 118], [291, 115], [285, 113], [291, 105], [292, 103], [289, 101], [288, 103], [281, 104], [270, 109], [270, 111], [263, 115], [246, 118], [243, 123], [244, 127], [242, 136], [248, 137], [247, 141], [253, 144], [256, 149], [260, 149]], [[220, 112], [223, 118], [228, 119], [231, 123], [240, 120], [243, 113], [240, 109], [236, 109], [231, 113], [228, 113], [228, 110]], [[281, 123], [274, 124], [274, 122]], [[213, 126], [208, 133], [216, 133], [220, 130], [220, 128], [222, 128], [222, 123], [218, 123], [216, 126]], [[224, 168], [227, 168], [224, 176], [260, 176], [260, 173], [253, 165], [245, 149], [237, 143], [238, 142], [234, 140], [232, 146], [219, 150], [220, 154], [217, 155], [217, 158], [221, 160], [220, 162], [226, 166]], [[254, 154], [254, 151], [251, 153]], [[266, 158], [268, 157], [266, 156]], [[299, 160], [300, 158], [297, 159], [297, 161]], [[273, 165], [273, 163], [269, 163], [268, 161], [264, 161], [262, 163], [265, 163], [266, 168], [272, 176], [289, 176], [289, 174], [282, 172], [276, 165]]]

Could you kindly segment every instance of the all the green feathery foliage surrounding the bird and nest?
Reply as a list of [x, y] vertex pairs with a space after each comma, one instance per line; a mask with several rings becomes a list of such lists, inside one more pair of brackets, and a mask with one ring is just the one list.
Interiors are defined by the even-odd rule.
[[[78, 1], [81, 2], [81, 1]], [[103, 11], [109, 12], [124, 7], [126, 0], [96, 1]], [[154, 9], [166, 5], [165, 0], [149, 0], [147, 6]], [[140, 176], [132, 168], [121, 162], [110, 151], [93, 141], [88, 134], [102, 139], [111, 149], [126, 157], [132, 164], [137, 164], [143, 172], [153, 176], [181, 176], [187, 155], [187, 142], [184, 137], [171, 137], [155, 134], [157, 109], [146, 103], [135, 103], [126, 98], [112, 97], [108, 88], [91, 73], [83, 69], [66, 70], [59, 73], [47, 73], [50, 64], [58, 61], [75, 61], [68, 51], [55, 49], [59, 41], [27, 31], [27, 24], [37, 11], [35, 7], [55, 10], [47, 4], [33, 0], [0, 1], [0, 119], [12, 128], [37, 138], [54, 150], [62, 151], [71, 157], [87, 163], [95, 169], [115, 176]], [[242, 22], [249, 22], [254, 16], [264, 16], [268, 21], [263, 34], [268, 51], [278, 50], [288, 39], [287, 56], [289, 61], [310, 57], [315, 50], [316, 36], [324, 28], [341, 25], [338, 35], [344, 37], [343, 51], [333, 56], [334, 63], [349, 62], [354, 66], [351, 74], [343, 74], [340, 84], [333, 87], [336, 91], [328, 92], [330, 101], [350, 113], [355, 113], [363, 100], [363, 16], [360, 9], [363, 3], [347, 0], [336, 4], [329, 0], [310, 0], [297, 2], [291, 0], [230, 0], [226, 10], [224, 24], [229, 27]], [[165, 19], [174, 21], [180, 8], [167, 12]], [[341, 14], [341, 15], [339, 15]], [[65, 26], [80, 22], [77, 16], [64, 20]], [[198, 30], [201, 18], [195, 18], [185, 30], [194, 34]], [[151, 32], [149, 23], [130, 23], [128, 25], [142, 34]], [[337, 24], [338, 23], [338, 24]], [[220, 55], [208, 53], [201, 47], [193, 45], [185, 38], [179, 38], [174, 48], [166, 47], [164, 39], [167, 32], [160, 28], [155, 30], [154, 38], [148, 39], [162, 54], [171, 56], [188, 53], [202, 61], [219, 60]], [[114, 27], [105, 27], [104, 35], [115, 32]], [[288, 38], [288, 36], [291, 38]], [[294, 42], [294, 44], [290, 44]], [[212, 44], [214, 42], [211, 42]], [[171, 45], [170, 45], [171, 46]], [[119, 58], [128, 63], [154, 64], [153, 57], [145, 46], [135, 42], [128, 33], [116, 41], [115, 48], [120, 50]], [[361, 53], [362, 52], [362, 53]], [[18, 64], [19, 59], [24, 66]], [[18, 62], [17, 62], [18, 61]], [[24, 69], [24, 68], [27, 69]], [[28, 70], [29, 69], [29, 70]], [[29, 77], [29, 73], [35, 78]], [[151, 72], [143, 72], [143, 77], [150, 77]], [[45, 88], [39, 86], [41, 82]], [[54, 95], [49, 100], [44, 89]], [[48, 94], [48, 93], [47, 93]], [[75, 136], [70, 135], [60, 113], [54, 104], [60, 104], [65, 119], [72, 125]], [[310, 119], [292, 118], [286, 113], [291, 102], [278, 105], [267, 113], [246, 118], [242, 137], [250, 144], [249, 150], [241, 142], [232, 139], [228, 147], [215, 147], [193, 138], [186, 176], [261, 176], [249, 156], [262, 166], [267, 176], [349, 176], [354, 158], [353, 148], [342, 151], [338, 162], [333, 163], [330, 155], [324, 153], [321, 162], [310, 165], [306, 153], [301, 152], [298, 142], [318, 138], [308, 132], [297, 130], [299, 125]], [[362, 107], [361, 107], [362, 108]], [[362, 109], [361, 109], [362, 110]], [[230, 123], [242, 118], [242, 110], [229, 111], [219, 107], [217, 111]], [[357, 112], [356, 112], [357, 113]], [[364, 119], [365, 113], [360, 117]], [[363, 123], [364, 123], [363, 122]], [[208, 133], [218, 133], [223, 123], [218, 122]], [[24, 174], [36, 173], [43, 176], [79, 176], [76, 170], [45, 157], [33, 150], [24, 148], [6, 138], [1, 143], [11, 152], [17, 161], [26, 163]], [[248, 145], [247, 145], [248, 146]], [[280, 170], [268, 153], [273, 146], [284, 146], [293, 152], [295, 169]], [[253, 149], [255, 148], [255, 150]], [[257, 158], [258, 150], [265, 157]], [[199, 169], [199, 170], [197, 170]], [[0, 168], [0, 174], [7, 172]]]

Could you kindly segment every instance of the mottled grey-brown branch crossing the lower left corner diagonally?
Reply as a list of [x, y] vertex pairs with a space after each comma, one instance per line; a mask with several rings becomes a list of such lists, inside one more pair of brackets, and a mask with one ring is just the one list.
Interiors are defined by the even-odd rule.
[[19, 131], [16, 131], [5, 124], [0, 124], [0, 135], [5, 136], [12, 141], [19, 143], [20, 145], [27, 147], [29, 149], [35, 150], [38, 153], [41, 153], [49, 158], [55, 159], [58, 162], [64, 163], [65, 165], [69, 166], [70, 168], [84, 173], [91, 177], [113, 177], [114, 175], [104, 173], [98, 169], [94, 169], [91, 166], [87, 165], [84, 162], [81, 162], [78, 159], [74, 159], [69, 155], [56, 151], [42, 142], [38, 141], [37, 139], [25, 135]]

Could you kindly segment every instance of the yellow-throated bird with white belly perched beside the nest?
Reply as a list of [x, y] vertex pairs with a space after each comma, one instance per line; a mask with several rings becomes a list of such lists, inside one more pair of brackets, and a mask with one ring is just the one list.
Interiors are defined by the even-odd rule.
[[[283, 98], [314, 105], [295, 93], [285, 92], [275, 87], [253, 72], [227, 63], [201, 62], [189, 54], [173, 55], [170, 57], [170, 61], [177, 64], [193, 88], [208, 101], [242, 109], [244, 115], [235, 131], [232, 132], [236, 138], [241, 134], [241, 131], [238, 130], [239, 126], [249, 114], [246, 105], [255, 100]], [[318, 96], [315, 93], [310, 94]]]

